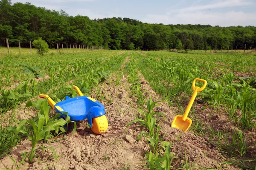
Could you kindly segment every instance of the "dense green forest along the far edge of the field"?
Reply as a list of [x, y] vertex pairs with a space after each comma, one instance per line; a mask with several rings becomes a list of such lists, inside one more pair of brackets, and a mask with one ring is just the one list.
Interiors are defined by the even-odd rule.
[[29, 40], [58, 44], [102, 46], [114, 50], [246, 49], [256, 48], [255, 26], [163, 25], [129, 18], [91, 20], [64, 11], [36, 7], [31, 3], [0, 0], [0, 45], [29, 47]]

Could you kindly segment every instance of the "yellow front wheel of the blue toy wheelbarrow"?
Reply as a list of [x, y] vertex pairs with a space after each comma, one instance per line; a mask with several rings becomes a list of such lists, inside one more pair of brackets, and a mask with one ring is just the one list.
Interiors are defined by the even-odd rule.
[[108, 129], [108, 120], [105, 115], [93, 118], [93, 125], [91, 130], [96, 134], [102, 134]]

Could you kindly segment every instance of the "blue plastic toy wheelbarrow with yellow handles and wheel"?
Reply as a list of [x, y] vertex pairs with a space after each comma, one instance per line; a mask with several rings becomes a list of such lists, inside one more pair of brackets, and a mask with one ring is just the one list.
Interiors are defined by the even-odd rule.
[[[79, 97], [70, 98], [66, 96], [64, 101], [58, 102], [57, 104], [45, 94], [40, 94], [39, 97], [48, 98], [49, 104], [57, 113], [62, 114], [67, 112], [71, 121], [88, 119], [89, 127], [94, 133], [102, 134], [107, 131], [108, 120], [105, 116], [104, 106], [95, 99], [84, 96], [77, 86], [73, 85], [72, 87], [76, 89]], [[60, 118], [65, 119], [65, 117]]]

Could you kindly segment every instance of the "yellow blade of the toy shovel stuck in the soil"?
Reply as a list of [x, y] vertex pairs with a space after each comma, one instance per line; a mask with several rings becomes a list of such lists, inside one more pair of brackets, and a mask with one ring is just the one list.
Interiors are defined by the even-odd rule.
[[186, 118], [185, 121], [182, 120], [182, 115], [177, 115], [172, 121], [172, 127], [175, 127], [177, 129], [183, 130], [183, 132], [186, 132], [189, 127], [192, 124], [192, 120], [189, 118]]

